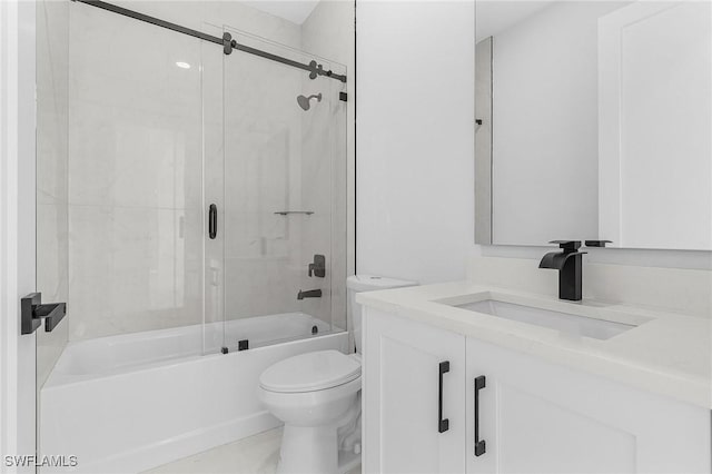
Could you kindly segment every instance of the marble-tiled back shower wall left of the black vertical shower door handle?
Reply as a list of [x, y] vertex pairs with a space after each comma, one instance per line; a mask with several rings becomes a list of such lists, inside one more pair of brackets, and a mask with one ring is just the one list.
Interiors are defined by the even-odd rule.
[[198, 324], [199, 43], [70, 8], [70, 338]]

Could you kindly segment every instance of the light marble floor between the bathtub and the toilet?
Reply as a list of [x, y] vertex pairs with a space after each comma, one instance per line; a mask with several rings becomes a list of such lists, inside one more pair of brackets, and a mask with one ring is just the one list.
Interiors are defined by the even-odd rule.
[[[270, 429], [164, 464], [145, 474], [274, 474], [280, 440], [281, 428]], [[360, 465], [348, 474], [360, 474]]]

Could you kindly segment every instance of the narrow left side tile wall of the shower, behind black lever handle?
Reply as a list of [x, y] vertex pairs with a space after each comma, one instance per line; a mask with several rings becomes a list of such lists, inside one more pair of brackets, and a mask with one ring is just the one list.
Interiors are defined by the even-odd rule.
[[[46, 303], [67, 302], [69, 3], [37, 3], [37, 289]], [[68, 339], [65, 319], [37, 332], [37, 381], [42, 386]]]

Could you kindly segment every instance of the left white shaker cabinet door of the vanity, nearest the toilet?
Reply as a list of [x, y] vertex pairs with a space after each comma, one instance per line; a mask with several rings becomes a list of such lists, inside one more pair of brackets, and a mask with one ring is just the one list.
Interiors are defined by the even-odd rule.
[[364, 472], [464, 473], [465, 337], [367, 308], [363, 356]]

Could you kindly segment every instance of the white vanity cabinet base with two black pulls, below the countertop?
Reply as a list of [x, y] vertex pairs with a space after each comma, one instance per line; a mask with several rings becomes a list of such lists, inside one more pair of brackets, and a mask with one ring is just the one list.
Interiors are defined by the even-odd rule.
[[366, 310], [365, 473], [711, 471], [709, 409]]

